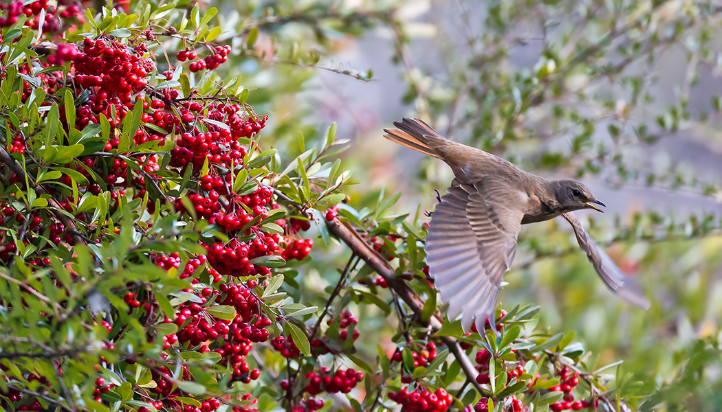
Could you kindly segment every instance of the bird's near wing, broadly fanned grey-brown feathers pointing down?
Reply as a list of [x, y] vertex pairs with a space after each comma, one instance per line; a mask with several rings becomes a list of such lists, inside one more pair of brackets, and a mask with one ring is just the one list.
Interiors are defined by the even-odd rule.
[[484, 177], [448, 188], [431, 215], [426, 237], [429, 275], [461, 326], [494, 322], [497, 294], [516, 253], [526, 193], [504, 180]]

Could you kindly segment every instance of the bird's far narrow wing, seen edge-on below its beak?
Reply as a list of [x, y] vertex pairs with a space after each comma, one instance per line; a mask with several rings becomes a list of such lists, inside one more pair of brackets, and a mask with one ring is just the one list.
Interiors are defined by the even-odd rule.
[[572, 213], [565, 213], [562, 216], [574, 228], [579, 246], [587, 254], [596, 273], [599, 274], [599, 277], [609, 290], [617, 294], [625, 302], [647, 309], [649, 301], [645, 299], [642, 289], [617, 268], [612, 259], [604, 253], [604, 250], [601, 250], [601, 247], [584, 230], [577, 217]]

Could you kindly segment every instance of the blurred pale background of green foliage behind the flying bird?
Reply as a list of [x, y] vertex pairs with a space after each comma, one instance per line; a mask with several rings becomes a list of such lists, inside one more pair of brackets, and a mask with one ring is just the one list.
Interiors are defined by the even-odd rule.
[[[269, 113], [266, 144], [292, 159], [331, 122], [356, 210], [400, 192], [395, 214], [434, 207], [453, 177], [382, 129], [426, 120], [531, 172], [576, 178], [608, 206], [578, 216], [651, 297], [615, 299], [565, 222], [523, 227], [500, 302], [541, 306], [600, 366], [622, 360], [646, 410], [722, 409], [722, 4], [695, 1], [214, 2], [243, 51], [235, 71]], [[231, 65], [229, 65], [231, 66]], [[274, 96], [274, 100], [270, 97]], [[284, 98], [279, 99], [278, 96]], [[419, 219], [424, 221], [424, 216]], [[318, 253], [303, 284], [337, 276]], [[374, 353], [393, 325], [364, 313]], [[391, 322], [391, 321], [389, 321]], [[648, 398], [650, 397], [651, 398]], [[663, 405], [663, 406], [661, 406]]]

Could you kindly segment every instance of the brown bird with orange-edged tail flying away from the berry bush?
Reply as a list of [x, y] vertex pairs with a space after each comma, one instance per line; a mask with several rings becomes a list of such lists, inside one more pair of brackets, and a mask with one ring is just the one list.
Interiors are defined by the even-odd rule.
[[575, 180], [546, 180], [494, 154], [456, 143], [419, 119], [393, 122], [386, 139], [442, 159], [456, 178], [431, 214], [426, 237], [429, 275], [450, 319], [483, 330], [496, 309], [504, 274], [516, 253], [522, 224], [563, 216], [579, 246], [609, 289], [626, 302], [648, 308], [641, 289], [627, 278], [583, 229], [572, 211], [605, 206]]

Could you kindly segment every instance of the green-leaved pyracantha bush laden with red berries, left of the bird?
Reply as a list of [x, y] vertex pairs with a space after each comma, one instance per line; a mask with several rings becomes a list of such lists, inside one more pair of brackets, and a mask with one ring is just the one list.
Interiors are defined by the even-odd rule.
[[[290, 162], [264, 149], [272, 113], [217, 74], [258, 27], [216, 41], [213, 8], [137, 3], [0, 7], [1, 408], [611, 405], [608, 377], [572, 333], [535, 330], [536, 308], [500, 310], [495, 330], [443, 320], [425, 225], [388, 213], [398, 196], [343, 204], [335, 126]], [[312, 227], [352, 251], [316, 294]], [[398, 326], [383, 347], [369, 310]]]

